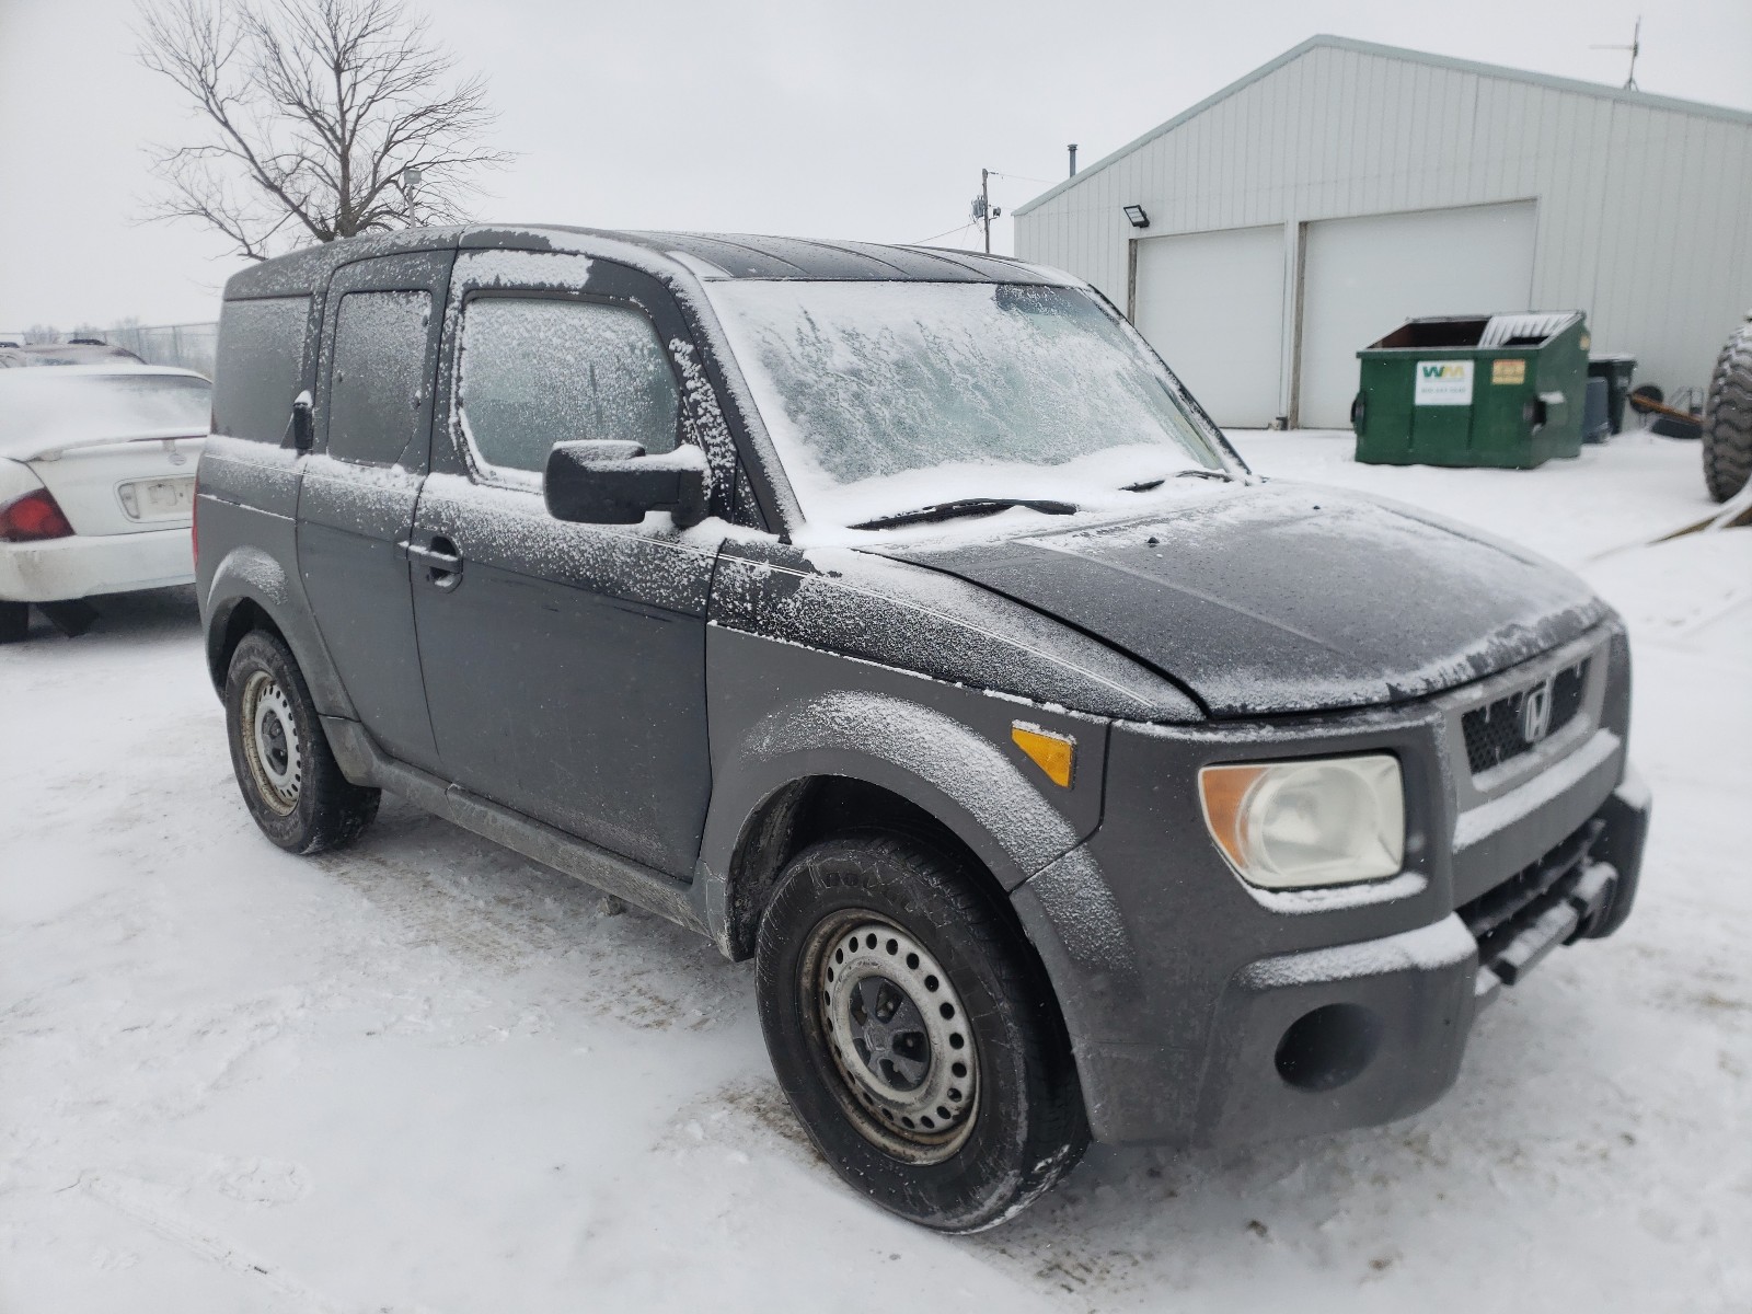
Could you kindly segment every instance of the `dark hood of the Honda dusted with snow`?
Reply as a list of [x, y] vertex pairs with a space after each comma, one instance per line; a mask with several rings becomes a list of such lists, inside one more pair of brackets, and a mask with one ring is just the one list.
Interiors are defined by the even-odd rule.
[[1212, 717], [1419, 697], [1608, 615], [1542, 557], [1337, 489], [1212, 489], [1120, 524], [880, 548], [985, 585], [1184, 685]]

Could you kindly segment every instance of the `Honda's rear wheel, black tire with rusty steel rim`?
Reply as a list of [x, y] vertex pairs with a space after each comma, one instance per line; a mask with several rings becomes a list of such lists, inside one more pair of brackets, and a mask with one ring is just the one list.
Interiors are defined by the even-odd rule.
[[224, 727], [244, 804], [280, 848], [340, 848], [377, 816], [380, 792], [340, 773], [298, 662], [266, 631], [251, 631], [231, 653]]

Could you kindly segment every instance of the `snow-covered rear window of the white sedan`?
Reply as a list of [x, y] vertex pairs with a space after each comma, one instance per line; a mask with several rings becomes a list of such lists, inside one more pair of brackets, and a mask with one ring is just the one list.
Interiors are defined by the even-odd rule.
[[212, 384], [193, 375], [7, 370], [0, 373], [0, 454], [207, 433], [212, 396]]

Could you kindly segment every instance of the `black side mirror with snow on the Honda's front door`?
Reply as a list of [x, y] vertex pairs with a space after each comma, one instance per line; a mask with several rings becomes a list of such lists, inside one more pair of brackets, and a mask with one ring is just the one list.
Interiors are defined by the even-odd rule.
[[639, 443], [555, 443], [541, 494], [555, 520], [638, 524], [645, 512], [669, 512], [687, 529], [706, 519], [706, 454], [692, 445], [645, 456]]

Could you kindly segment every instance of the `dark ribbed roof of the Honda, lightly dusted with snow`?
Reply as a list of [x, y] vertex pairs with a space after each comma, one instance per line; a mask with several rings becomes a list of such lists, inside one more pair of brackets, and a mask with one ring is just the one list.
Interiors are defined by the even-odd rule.
[[[755, 233], [657, 233], [566, 224], [470, 224], [373, 233], [254, 265], [226, 284], [226, 300], [291, 296], [326, 284], [338, 265], [410, 251], [506, 249], [634, 258], [645, 268], [696, 279], [794, 279], [832, 282], [1074, 282], [1009, 256], [878, 242], [823, 242]], [[664, 268], [668, 266], [668, 268]]]

